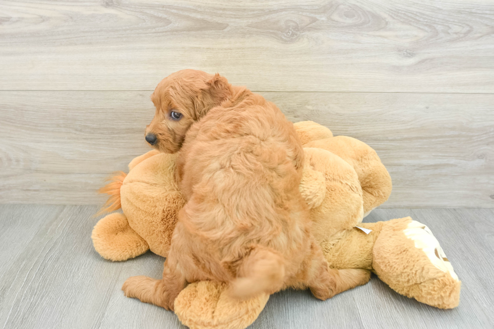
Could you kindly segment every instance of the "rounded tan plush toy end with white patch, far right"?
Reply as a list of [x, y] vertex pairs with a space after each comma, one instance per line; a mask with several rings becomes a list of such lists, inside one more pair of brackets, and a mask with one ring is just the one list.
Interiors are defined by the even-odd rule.
[[385, 223], [373, 250], [379, 278], [419, 302], [439, 308], [458, 306], [461, 282], [428, 227], [410, 217]]

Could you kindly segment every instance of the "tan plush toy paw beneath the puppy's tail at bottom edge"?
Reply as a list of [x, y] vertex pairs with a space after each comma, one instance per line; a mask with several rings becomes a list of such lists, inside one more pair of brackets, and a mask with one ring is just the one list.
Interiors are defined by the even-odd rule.
[[178, 319], [191, 329], [243, 329], [257, 319], [268, 299], [268, 294], [234, 299], [225, 283], [200, 281], [180, 292], [174, 310]]

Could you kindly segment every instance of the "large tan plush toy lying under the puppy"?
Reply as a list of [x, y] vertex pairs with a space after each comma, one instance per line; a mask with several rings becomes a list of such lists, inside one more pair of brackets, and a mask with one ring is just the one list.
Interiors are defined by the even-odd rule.
[[[329, 266], [365, 269], [396, 292], [439, 308], [459, 303], [460, 281], [438, 240], [410, 217], [361, 223], [391, 193], [391, 178], [376, 152], [356, 139], [337, 136], [315, 122], [294, 124], [305, 154], [300, 191], [311, 209], [313, 234]], [[94, 227], [96, 251], [126, 260], [147, 250], [167, 256], [177, 213], [184, 205], [174, 180], [175, 154], [150, 151], [132, 160], [102, 191], [107, 210], [121, 208]], [[245, 328], [269, 295], [232, 299], [224, 283], [188, 285], [175, 300], [180, 321], [193, 328]]]

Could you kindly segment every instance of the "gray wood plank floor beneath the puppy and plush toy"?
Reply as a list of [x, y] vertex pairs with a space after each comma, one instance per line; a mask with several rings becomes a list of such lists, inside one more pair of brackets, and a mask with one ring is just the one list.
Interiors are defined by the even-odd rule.
[[[160, 277], [146, 253], [109, 262], [93, 249], [96, 206], [0, 205], [0, 327], [181, 328], [173, 313], [123, 296], [129, 276]], [[250, 328], [487, 328], [494, 315], [494, 210], [377, 209], [365, 222], [412, 216], [429, 226], [462, 281], [460, 306], [440, 310], [377, 277], [321, 302], [308, 291], [271, 296]]]

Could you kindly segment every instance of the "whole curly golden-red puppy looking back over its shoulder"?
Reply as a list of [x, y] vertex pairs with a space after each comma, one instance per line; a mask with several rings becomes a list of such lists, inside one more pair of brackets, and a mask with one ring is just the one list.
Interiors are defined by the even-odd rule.
[[216, 280], [238, 298], [308, 287], [324, 300], [368, 281], [365, 270], [328, 268], [298, 190], [302, 146], [276, 105], [194, 70], [165, 78], [152, 100], [146, 140], [179, 152], [176, 180], [187, 204], [163, 279], [129, 278], [128, 297], [172, 310], [188, 283]]

